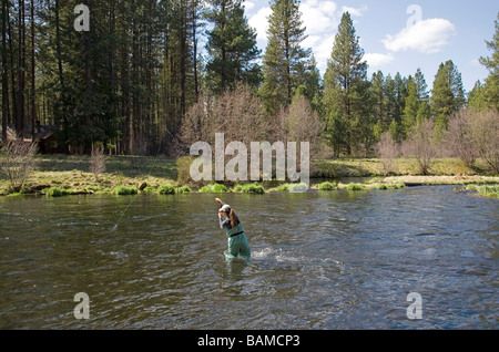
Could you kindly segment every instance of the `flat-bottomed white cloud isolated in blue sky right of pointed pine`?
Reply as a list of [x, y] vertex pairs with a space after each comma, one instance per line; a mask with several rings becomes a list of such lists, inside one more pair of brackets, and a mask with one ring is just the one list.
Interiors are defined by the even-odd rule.
[[449, 43], [455, 25], [445, 19], [429, 19], [404, 28], [395, 35], [387, 35], [383, 40], [389, 51], [416, 50], [421, 53], [439, 52]]

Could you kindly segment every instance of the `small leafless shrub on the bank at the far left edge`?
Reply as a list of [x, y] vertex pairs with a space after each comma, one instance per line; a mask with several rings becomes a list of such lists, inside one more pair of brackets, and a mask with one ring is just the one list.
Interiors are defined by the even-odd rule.
[[22, 139], [8, 141], [1, 151], [0, 172], [8, 179], [10, 188], [20, 191], [37, 168], [38, 144]]

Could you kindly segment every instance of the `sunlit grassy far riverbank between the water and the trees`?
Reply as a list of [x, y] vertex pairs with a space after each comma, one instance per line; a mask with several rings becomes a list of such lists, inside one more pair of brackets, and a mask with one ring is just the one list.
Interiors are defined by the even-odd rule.
[[[20, 194], [42, 194], [65, 196], [80, 194], [160, 195], [190, 191], [264, 194], [272, 191], [301, 191], [299, 184], [273, 184], [266, 188], [258, 183], [240, 185], [184, 185], [177, 183], [176, 161], [166, 157], [112, 156], [105, 162], [105, 172], [95, 176], [90, 173], [89, 156], [47, 155], [39, 157], [39, 167], [27, 179]], [[342, 184], [336, 182], [316, 182], [312, 189], [397, 189], [406, 185], [469, 185], [499, 184], [499, 177], [478, 175], [468, 169], [458, 159], [438, 159], [431, 176], [418, 176], [415, 161], [399, 159], [398, 175], [385, 177], [379, 159], [334, 159], [320, 161], [312, 170], [312, 177], [343, 178], [369, 177], [363, 182]], [[184, 170], [185, 173], [185, 170]], [[9, 183], [0, 179], [0, 195], [12, 194]]]

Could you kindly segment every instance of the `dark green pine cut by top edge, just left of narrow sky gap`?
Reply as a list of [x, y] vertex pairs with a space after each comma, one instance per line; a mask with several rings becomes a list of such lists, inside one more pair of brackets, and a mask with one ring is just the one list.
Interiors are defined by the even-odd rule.
[[259, 85], [261, 69], [255, 62], [261, 54], [256, 31], [247, 24], [241, 0], [212, 0], [205, 18], [214, 28], [207, 32], [206, 64], [208, 85], [216, 94], [236, 83]]

